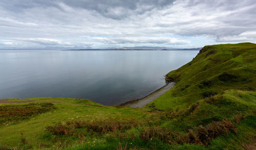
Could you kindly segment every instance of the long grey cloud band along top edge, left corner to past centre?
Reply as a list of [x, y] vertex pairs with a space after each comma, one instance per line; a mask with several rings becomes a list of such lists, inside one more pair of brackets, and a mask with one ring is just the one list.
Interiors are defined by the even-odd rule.
[[[57, 0], [57, 1], [44, 1], [44, 0], [14, 0], [8, 3], [0, 2], [3, 8], [11, 12], [23, 12], [31, 8], [48, 8], [55, 7], [60, 10], [60, 4], [65, 4], [75, 9], [86, 9], [98, 12], [104, 17], [112, 19], [122, 19], [130, 15], [143, 14], [146, 11], [151, 11], [154, 8], [166, 7], [173, 4], [175, 0]], [[65, 10], [63, 10], [65, 11]]]

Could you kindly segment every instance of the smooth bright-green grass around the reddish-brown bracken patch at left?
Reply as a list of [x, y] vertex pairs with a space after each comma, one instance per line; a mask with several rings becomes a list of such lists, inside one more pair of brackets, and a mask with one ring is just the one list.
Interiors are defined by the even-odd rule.
[[[28, 99], [9, 100], [10, 102], [25, 101]], [[17, 146], [22, 144], [20, 141], [20, 133], [24, 133], [24, 137], [33, 147], [40, 143], [52, 144], [48, 139], [45, 139], [45, 128], [56, 122], [70, 121], [70, 120], [97, 120], [108, 117], [118, 118], [138, 118], [142, 119], [146, 115], [150, 115], [145, 110], [133, 108], [115, 108], [102, 106], [93, 103], [87, 99], [72, 99], [72, 98], [30, 98], [32, 102], [52, 102], [56, 109], [35, 115], [32, 118], [20, 121], [18, 123], [10, 124], [0, 128], [0, 143], [1, 145]], [[30, 102], [29, 102], [30, 103]], [[4, 105], [4, 104], [2, 104]], [[10, 103], [8, 104], [10, 105]], [[12, 105], [21, 105], [12, 104]], [[140, 114], [140, 115], [138, 115]]]

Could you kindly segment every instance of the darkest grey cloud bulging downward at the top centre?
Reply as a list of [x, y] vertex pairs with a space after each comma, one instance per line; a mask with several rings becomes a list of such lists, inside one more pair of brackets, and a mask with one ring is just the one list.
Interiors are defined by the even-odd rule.
[[64, 3], [68, 6], [77, 8], [94, 10], [105, 17], [113, 19], [122, 19], [131, 14], [143, 14], [146, 11], [151, 11], [154, 8], [162, 8], [172, 4], [175, 0], [86, 0], [74, 1], [65, 0]]

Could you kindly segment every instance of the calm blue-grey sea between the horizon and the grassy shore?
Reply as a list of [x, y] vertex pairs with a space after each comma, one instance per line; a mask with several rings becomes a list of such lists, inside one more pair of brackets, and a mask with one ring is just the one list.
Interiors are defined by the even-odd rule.
[[199, 51], [0, 51], [0, 98], [88, 98], [117, 105], [165, 85]]

